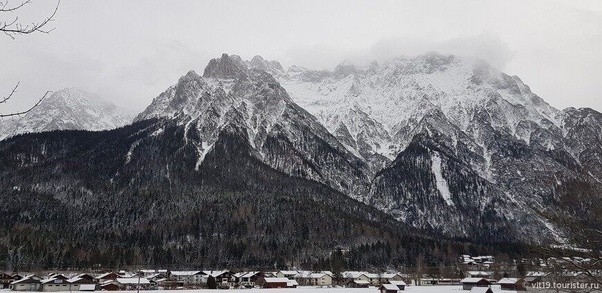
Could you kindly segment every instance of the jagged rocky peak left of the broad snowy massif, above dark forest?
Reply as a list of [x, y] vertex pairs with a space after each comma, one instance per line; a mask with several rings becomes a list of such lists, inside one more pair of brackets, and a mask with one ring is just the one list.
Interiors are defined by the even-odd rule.
[[367, 182], [367, 164], [295, 104], [272, 75], [236, 55], [212, 59], [203, 77], [193, 71], [181, 77], [136, 121], [150, 118], [183, 127], [181, 139], [197, 149], [197, 169], [220, 133], [238, 129], [252, 146], [251, 155], [274, 169], [355, 197], [365, 193], [365, 185], [356, 182]]

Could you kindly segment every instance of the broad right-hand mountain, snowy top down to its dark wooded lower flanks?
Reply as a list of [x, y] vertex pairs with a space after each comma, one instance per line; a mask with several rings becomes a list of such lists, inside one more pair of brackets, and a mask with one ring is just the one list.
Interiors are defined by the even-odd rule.
[[601, 115], [558, 111], [484, 62], [430, 53], [275, 77], [377, 172], [360, 199], [410, 225], [511, 239], [547, 225], [533, 209], [574, 202], [571, 187], [602, 191]]

